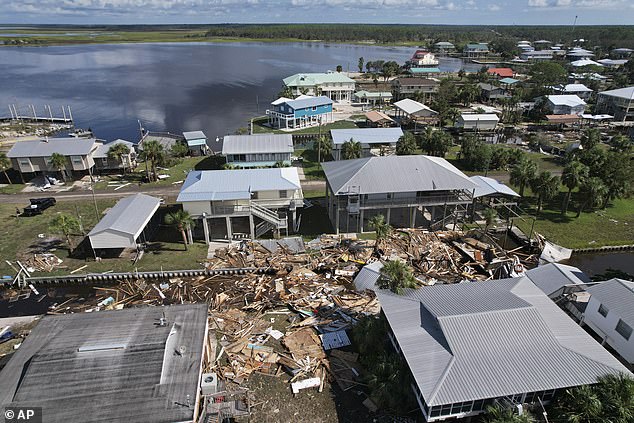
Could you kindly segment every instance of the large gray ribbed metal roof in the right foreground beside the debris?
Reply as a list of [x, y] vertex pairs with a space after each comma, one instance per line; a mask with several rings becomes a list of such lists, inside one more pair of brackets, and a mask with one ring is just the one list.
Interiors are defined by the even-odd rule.
[[527, 278], [376, 293], [428, 405], [629, 373]]

